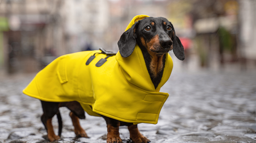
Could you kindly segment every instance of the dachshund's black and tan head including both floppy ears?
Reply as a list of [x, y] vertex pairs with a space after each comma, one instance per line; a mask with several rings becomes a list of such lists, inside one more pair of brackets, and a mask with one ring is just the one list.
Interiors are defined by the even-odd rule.
[[[122, 57], [129, 57], [135, 45], [143, 45], [149, 53], [161, 56], [173, 50], [174, 55], [184, 60], [184, 48], [171, 22], [163, 17], [146, 17], [126, 30], [118, 41]], [[141, 47], [141, 46], [140, 46]]]

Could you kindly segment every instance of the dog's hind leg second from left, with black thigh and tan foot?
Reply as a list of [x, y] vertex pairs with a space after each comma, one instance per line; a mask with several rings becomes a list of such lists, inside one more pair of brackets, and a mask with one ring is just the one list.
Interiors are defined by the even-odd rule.
[[72, 123], [74, 125], [74, 132], [76, 137], [85, 137], [89, 138], [85, 132], [85, 130], [81, 127], [79, 123], [79, 118], [80, 119], [85, 119], [85, 111], [81, 107], [80, 103], [73, 101], [73, 102], [65, 102], [61, 103], [61, 106], [67, 107], [71, 112], [69, 116], [72, 119]]

